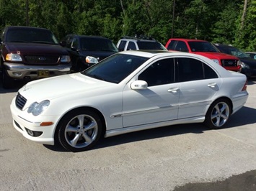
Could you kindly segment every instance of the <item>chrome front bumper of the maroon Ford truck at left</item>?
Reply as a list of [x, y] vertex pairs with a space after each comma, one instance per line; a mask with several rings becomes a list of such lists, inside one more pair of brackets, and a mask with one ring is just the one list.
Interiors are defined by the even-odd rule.
[[48, 77], [68, 74], [71, 71], [71, 63], [66, 65], [24, 65], [22, 63], [4, 62], [4, 67], [9, 77], [14, 79], [39, 79], [38, 71], [47, 71]]

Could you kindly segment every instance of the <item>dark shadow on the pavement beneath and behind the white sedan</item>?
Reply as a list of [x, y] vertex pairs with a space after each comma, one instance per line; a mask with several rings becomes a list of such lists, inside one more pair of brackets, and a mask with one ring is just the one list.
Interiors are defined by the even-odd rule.
[[[237, 113], [234, 113], [230, 117], [228, 124], [225, 129], [235, 128], [237, 126], [244, 126], [247, 124], [255, 124], [256, 109], [243, 107]], [[112, 136], [105, 139], [101, 139], [94, 149], [102, 149], [110, 146], [117, 146], [120, 144], [128, 144], [136, 141], [144, 141], [149, 139], [159, 139], [167, 136], [176, 136], [180, 134], [203, 134], [204, 131], [211, 131], [203, 124], [180, 124], [173, 126], [163, 126], [156, 129], [148, 129], [144, 131], [136, 131], [128, 134], [121, 134], [118, 136]], [[45, 145], [46, 148], [56, 152], [67, 152], [62, 148], [61, 145], [49, 146]]]

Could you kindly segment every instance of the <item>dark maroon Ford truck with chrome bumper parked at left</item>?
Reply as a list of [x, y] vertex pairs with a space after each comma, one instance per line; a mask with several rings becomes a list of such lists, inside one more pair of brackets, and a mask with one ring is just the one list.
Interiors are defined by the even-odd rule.
[[49, 29], [5, 27], [0, 37], [1, 83], [12, 88], [14, 80], [33, 80], [70, 73], [69, 52]]

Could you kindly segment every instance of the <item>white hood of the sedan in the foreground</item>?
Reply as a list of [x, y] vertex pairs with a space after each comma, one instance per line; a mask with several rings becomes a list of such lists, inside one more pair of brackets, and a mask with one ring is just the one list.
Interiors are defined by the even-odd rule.
[[85, 91], [87, 95], [97, 89], [107, 88], [113, 83], [89, 78], [81, 73], [60, 75], [42, 80], [34, 80], [19, 89], [19, 93], [27, 100], [43, 101], [52, 100], [69, 94], [81, 94]]

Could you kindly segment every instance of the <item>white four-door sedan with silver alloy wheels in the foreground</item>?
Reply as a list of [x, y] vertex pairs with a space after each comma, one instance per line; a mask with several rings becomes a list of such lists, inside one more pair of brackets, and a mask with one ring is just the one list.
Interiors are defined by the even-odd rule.
[[206, 57], [126, 51], [81, 73], [27, 83], [11, 103], [15, 129], [72, 152], [101, 136], [173, 124], [223, 127], [247, 101], [247, 78]]

